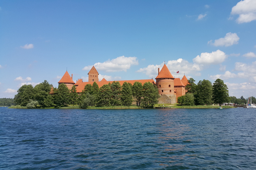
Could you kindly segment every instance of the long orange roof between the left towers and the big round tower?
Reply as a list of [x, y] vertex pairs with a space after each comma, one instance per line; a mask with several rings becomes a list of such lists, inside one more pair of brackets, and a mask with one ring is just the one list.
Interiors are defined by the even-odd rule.
[[[103, 80], [103, 79], [102, 79], [102, 80]], [[113, 82], [113, 81], [102, 81], [102, 80], [101, 80], [101, 81], [98, 81], [98, 82], [95, 81], [95, 82], [98, 84], [99, 88], [100, 88], [101, 86], [103, 86], [104, 84], [108, 84], [108, 83], [112, 83], [112, 82]], [[145, 79], [145, 80], [120, 80], [120, 81], [118, 81], [118, 82], [119, 82], [120, 85], [122, 86], [124, 82], [131, 83], [131, 84], [133, 85], [133, 83], [136, 82], [136, 81], [140, 82], [142, 85], [143, 85], [144, 83], [146, 83], [146, 82], [150, 82], [150, 83], [156, 84], [156, 82], [155, 82], [153, 79]], [[85, 86], [86, 84], [91, 84], [91, 85], [92, 85], [93, 82], [82, 82], [82, 83], [80, 83], [80, 84], [77, 86], [77, 88], [76, 88], [76, 92], [77, 92], [77, 93], [81, 93], [82, 90], [84, 90], [84, 86]]]

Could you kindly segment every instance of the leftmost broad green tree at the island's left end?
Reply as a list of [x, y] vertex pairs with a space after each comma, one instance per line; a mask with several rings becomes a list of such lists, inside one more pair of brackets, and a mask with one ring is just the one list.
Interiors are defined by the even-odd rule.
[[29, 100], [34, 99], [33, 86], [31, 84], [21, 86], [17, 92], [18, 94], [14, 97], [14, 102], [17, 105], [26, 106], [30, 103]]

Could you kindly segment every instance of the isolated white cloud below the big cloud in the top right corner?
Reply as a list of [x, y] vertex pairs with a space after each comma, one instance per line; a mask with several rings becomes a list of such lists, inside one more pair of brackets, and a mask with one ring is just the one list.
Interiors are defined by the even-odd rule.
[[214, 43], [211, 41], [208, 41], [208, 44], [214, 45], [214, 46], [231, 46], [233, 44], [238, 44], [239, 37], [236, 33], [227, 33], [224, 38], [220, 38], [218, 40], [214, 40]]

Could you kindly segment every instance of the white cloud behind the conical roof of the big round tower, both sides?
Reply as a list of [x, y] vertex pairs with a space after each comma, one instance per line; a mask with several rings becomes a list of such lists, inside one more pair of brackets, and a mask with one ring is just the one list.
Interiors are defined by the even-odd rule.
[[[158, 74], [158, 68], [160, 68], [161, 70], [163, 65], [164, 65], [164, 62], [161, 63], [160, 65], [148, 65], [147, 67], [140, 68], [139, 70], [137, 70], [137, 72], [145, 73], [150, 78], [156, 77]], [[194, 73], [198, 75], [200, 74], [198, 73], [198, 71], [201, 70], [198, 64], [189, 63], [187, 60], [184, 60], [182, 58], [179, 58], [177, 60], [169, 60], [166, 63], [166, 66], [168, 67], [168, 69], [170, 70], [173, 76], [175, 76], [177, 71], [180, 71], [180, 73], [185, 73], [185, 74]]]

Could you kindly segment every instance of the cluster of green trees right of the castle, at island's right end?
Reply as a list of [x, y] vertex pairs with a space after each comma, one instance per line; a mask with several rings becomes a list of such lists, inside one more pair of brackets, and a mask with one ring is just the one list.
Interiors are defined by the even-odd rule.
[[190, 78], [185, 89], [187, 90], [186, 94], [178, 97], [177, 102], [181, 105], [211, 105], [215, 103], [221, 106], [223, 103], [230, 102], [228, 87], [221, 79], [217, 79], [213, 84], [205, 79], [195, 84], [195, 80]]

